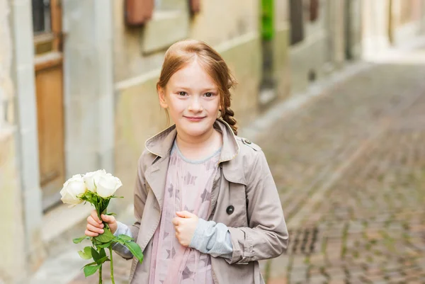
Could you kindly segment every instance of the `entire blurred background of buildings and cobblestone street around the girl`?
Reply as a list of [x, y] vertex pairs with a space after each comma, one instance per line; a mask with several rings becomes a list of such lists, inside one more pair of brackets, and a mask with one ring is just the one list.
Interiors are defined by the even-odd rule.
[[91, 208], [59, 191], [106, 169], [132, 222], [184, 38], [225, 58], [239, 134], [273, 171], [290, 247], [266, 283], [425, 283], [424, 35], [425, 0], [0, 0], [0, 283], [97, 283], [72, 244]]

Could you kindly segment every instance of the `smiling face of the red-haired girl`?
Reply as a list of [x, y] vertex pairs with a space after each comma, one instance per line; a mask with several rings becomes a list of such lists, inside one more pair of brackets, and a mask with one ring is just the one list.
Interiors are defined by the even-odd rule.
[[196, 60], [174, 73], [166, 88], [159, 88], [158, 93], [159, 103], [168, 108], [177, 131], [189, 137], [212, 131], [220, 95], [215, 82]]

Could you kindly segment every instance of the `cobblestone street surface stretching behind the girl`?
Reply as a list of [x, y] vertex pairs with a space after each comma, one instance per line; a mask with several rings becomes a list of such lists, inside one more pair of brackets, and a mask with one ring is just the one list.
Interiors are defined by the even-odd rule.
[[[268, 284], [425, 283], [424, 75], [425, 61], [373, 64], [263, 130], [290, 230]], [[115, 254], [115, 282], [129, 271]]]

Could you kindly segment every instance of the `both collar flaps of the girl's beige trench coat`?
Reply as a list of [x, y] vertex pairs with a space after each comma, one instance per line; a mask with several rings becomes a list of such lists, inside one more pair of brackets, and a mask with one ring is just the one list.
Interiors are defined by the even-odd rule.
[[[239, 154], [239, 144], [237, 144], [236, 136], [232, 128], [224, 120], [217, 119], [214, 128], [221, 132], [223, 145], [220, 154], [219, 164], [223, 161], [230, 161]], [[168, 127], [166, 130], [159, 132], [157, 135], [149, 138], [145, 142], [146, 149], [157, 157], [165, 157], [171, 151], [174, 140], [176, 139], [176, 125]]]

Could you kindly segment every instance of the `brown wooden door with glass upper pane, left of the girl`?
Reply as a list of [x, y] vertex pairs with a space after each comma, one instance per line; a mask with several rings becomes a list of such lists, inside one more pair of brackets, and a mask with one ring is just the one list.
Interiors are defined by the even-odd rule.
[[35, 93], [43, 209], [60, 201], [64, 183], [62, 9], [60, 0], [32, 0]]

